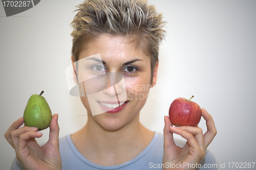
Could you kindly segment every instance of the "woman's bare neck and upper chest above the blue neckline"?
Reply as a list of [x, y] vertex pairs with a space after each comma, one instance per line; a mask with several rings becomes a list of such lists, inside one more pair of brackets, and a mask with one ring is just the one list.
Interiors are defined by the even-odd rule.
[[139, 114], [132, 122], [115, 130], [103, 128], [88, 116], [86, 126], [73, 134], [72, 140], [78, 151], [90, 161], [101, 165], [115, 165], [136, 157], [153, 136], [154, 132], [139, 122]]

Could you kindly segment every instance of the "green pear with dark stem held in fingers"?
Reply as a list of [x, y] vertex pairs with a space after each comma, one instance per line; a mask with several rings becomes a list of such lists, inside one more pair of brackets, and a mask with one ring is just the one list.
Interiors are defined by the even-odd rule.
[[44, 91], [39, 95], [33, 94], [30, 96], [23, 114], [25, 125], [36, 127], [38, 131], [47, 129], [52, 119], [52, 111], [44, 96], [41, 96], [42, 93]]

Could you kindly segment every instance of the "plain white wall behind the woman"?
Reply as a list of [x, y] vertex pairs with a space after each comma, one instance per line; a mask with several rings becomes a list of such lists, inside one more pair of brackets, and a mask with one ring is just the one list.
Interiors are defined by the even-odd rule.
[[[59, 113], [60, 137], [87, 121], [79, 98], [69, 95], [65, 77], [71, 64], [72, 12], [81, 2], [41, 1], [11, 17], [0, 3], [0, 169], [9, 169], [15, 157], [4, 133], [23, 116], [32, 94], [45, 91], [53, 113]], [[162, 132], [170, 103], [195, 95], [193, 101], [215, 120], [218, 134], [208, 148], [218, 165], [256, 162], [256, 1], [150, 2], [168, 23], [158, 83], [141, 122]], [[204, 120], [199, 126], [206, 131]], [[39, 142], [47, 140], [48, 131], [42, 131]]]

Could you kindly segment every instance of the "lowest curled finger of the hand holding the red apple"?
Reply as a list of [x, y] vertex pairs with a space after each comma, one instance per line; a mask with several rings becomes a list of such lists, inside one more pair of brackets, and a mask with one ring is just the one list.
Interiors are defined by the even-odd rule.
[[178, 135], [181, 135], [183, 138], [187, 140], [187, 143], [189, 145], [189, 153], [191, 155], [198, 156], [200, 159], [202, 158], [203, 151], [200, 149], [199, 144], [193, 134], [188, 133], [185, 130], [182, 130], [177, 127], [170, 127], [170, 131]]

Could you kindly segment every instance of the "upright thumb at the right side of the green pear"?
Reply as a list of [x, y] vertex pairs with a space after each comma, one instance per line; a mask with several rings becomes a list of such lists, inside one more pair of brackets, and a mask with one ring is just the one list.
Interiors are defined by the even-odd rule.
[[59, 147], [59, 125], [58, 125], [58, 114], [52, 116], [50, 123], [50, 134], [49, 134], [49, 143], [55, 147]]

